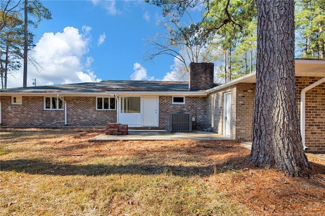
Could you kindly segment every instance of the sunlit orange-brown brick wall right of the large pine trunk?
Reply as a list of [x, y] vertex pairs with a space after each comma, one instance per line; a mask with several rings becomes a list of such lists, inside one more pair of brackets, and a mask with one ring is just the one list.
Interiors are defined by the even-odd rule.
[[[297, 105], [300, 115], [301, 90], [320, 80], [319, 77], [297, 77]], [[325, 83], [306, 92], [305, 145], [307, 152], [325, 153]]]

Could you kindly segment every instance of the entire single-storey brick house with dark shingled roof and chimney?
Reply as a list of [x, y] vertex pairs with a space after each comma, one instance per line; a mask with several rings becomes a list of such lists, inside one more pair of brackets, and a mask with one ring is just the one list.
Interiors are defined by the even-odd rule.
[[[301, 117], [305, 145], [310, 152], [325, 152], [325, 60], [295, 63], [299, 113], [300, 93], [308, 89]], [[213, 71], [212, 63], [191, 63], [189, 82], [102, 81], [2, 89], [1, 125], [104, 128], [106, 123], [123, 123], [131, 129], [170, 130], [171, 114], [184, 114], [192, 130], [250, 141], [255, 74], [216, 85]]]

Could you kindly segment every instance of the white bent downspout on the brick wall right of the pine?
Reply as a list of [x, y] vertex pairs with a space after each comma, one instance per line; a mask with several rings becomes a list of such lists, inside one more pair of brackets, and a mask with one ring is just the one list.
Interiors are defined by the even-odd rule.
[[318, 80], [317, 82], [311, 84], [310, 86], [307, 86], [306, 88], [304, 88], [300, 92], [300, 131], [301, 131], [301, 138], [302, 138], [302, 141], [303, 141], [304, 150], [308, 149], [306, 147], [306, 144], [305, 144], [306, 92], [308, 90], [318, 86], [319, 84], [321, 84], [323, 82], [325, 82], [325, 77]]

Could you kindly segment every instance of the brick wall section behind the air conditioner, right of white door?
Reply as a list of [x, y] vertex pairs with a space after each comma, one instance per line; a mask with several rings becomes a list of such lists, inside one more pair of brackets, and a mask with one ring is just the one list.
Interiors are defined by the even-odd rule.
[[192, 130], [205, 128], [205, 97], [185, 97], [185, 104], [172, 104], [172, 96], [159, 96], [159, 128], [169, 129], [169, 114], [190, 113], [195, 121]]

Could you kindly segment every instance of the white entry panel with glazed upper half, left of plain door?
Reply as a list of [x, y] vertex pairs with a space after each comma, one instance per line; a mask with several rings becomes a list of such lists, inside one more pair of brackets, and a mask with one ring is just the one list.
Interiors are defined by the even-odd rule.
[[120, 97], [118, 106], [118, 123], [128, 127], [141, 127], [141, 97]]

